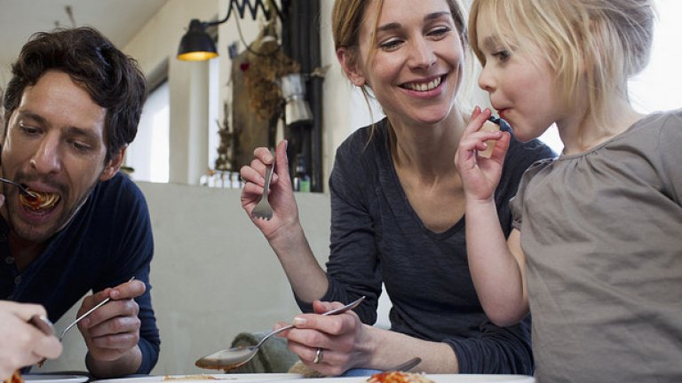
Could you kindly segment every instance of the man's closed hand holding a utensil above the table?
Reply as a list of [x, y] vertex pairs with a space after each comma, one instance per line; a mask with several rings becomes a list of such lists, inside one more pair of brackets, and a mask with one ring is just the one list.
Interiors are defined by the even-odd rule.
[[145, 293], [146, 286], [139, 280], [107, 288], [83, 300], [78, 316], [92, 309], [100, 301], [111, 298], [107, 304], [83, 318], [78, 329], [83, 333], [88, 347], [88, 368], [99, 377], [135, 373], [142, 362], [138, 347], [139, 306], [134, 298]]

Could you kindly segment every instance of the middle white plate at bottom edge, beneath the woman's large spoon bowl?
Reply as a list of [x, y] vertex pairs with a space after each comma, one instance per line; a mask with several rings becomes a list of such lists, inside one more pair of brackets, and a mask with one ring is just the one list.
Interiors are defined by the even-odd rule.
[[[265, 380], [301, 379], [301, 374], [290, 373], [252, 373], [252, 374], [187, 374], [187, 375], [155, 375], [138, 378], [95, 380], [98, 383], [229, 383], [231, 380], [248, 380], [249, 382]], [[50, 382], [52, 383], [52, 382]]]

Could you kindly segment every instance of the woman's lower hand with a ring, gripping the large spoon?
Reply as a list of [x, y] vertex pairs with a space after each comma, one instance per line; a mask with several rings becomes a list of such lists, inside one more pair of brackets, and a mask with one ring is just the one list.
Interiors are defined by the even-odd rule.
[[293, 324], [296, 327], [280, 334], [287, 338], [289, 350], [302, 363], [325, 376], [337, 376], [349, 369], [369, 365], [367, 326], [360, 318], [353, 311], [335, 316], [320, 315], [341, 307], [340, 302], [314, 301], [313, 309], [317, 314], [295, 317]]

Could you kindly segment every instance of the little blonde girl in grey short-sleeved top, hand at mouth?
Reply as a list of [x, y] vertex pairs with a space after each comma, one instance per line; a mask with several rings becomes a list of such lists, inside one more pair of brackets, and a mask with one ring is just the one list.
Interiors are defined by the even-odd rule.
[[456, 156], [474, 285], [496, 324], [530, 310], [540, 383], [682, 381], [682, 111], [641, 115], [627, 88], [653, 25], [647, 0], [472, 4], [491, 104], [516, 137], [556, 123], [565, 145], [527, 170], [506, 243], [493, 197], [509, 160], [476, 154], [487, 113]]

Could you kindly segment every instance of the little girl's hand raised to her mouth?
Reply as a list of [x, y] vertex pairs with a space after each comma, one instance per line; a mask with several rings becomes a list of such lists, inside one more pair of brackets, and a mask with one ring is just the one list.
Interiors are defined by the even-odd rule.
[[[481, 131], [483, 123], [490, 117], [490, 110], [473, 110], [464, 134], [459, 140], [455, 164], [464, 182], [467, 199], [488, 201], [494, 199], [495, 189], [502, 176], [504, 155], [509, 148], [511, 136], [502, 131]], [[490, 158], [481, 157], [479, 151], [487, 149], [486, 141], [497, 140]]]

